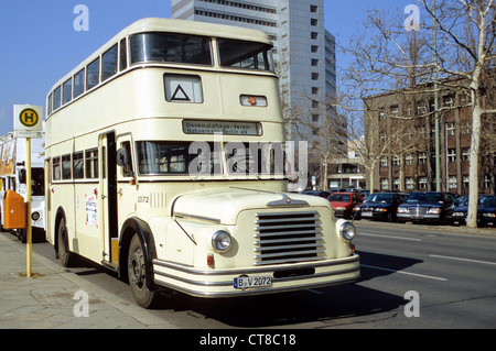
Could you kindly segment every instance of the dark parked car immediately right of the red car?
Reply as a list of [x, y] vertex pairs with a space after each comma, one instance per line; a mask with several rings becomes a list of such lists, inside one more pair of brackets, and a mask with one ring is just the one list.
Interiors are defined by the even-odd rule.
[[362, 218], [396, 221], [396, 210], [403, 202], [398, 193], [375, 193], [369, 195], [362, 205], [355, 207]]

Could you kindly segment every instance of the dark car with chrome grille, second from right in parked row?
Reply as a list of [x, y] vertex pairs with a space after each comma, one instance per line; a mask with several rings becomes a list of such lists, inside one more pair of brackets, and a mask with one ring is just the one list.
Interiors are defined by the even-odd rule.
[[413, 191], [398, 206], [398, 222], [435, 222], [446, 223], [451, 219], [455, 204], [445, 193]]

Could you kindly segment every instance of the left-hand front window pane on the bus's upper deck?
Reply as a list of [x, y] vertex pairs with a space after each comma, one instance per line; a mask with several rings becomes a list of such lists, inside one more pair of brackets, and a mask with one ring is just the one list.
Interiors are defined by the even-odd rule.
[[212, 66], [211, 39], [206, 36], [141, 33], [130, 37], [131, 64], [182, 63]]

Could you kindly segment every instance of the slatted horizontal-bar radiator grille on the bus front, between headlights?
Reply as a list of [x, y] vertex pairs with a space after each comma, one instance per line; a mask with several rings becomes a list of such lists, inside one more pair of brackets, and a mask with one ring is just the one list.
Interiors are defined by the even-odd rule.
[[255, 265], [323, 260], [317, 211], [257, 213]]

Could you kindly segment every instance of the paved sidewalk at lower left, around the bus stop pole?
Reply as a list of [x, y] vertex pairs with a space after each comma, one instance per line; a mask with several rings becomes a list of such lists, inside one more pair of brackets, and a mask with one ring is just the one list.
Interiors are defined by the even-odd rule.
[[0, 234], [0, 329], [176, 328], [35, 252], [25, 277], [25, 245], [11, 238]]

